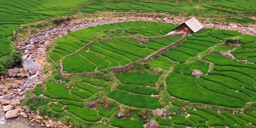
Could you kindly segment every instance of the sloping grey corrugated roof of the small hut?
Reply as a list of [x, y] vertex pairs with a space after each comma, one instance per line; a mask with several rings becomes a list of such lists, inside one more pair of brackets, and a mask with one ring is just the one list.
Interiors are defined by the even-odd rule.
[[[194, 33], [198, 32], [200, 29], [203, 28], [203, 25], [194, 17], [190, 18], [189, 20], [187, 20], [183, 23], [185, 23]], [[182, 25], [182, 24], [180, 24], [180, 25]], [[176, 27], [178, 27], [178, 26], [176, 26]]]

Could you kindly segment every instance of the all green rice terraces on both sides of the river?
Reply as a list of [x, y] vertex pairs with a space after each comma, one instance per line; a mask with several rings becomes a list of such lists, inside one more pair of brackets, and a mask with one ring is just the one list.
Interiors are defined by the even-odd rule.
[[[104, 11], [168, 12], [253, 23], [254, 19], [244, 14], [255, 13], [256, 0], [1, 0], [0, 58], [15, 50], [12, 31], [27, 28], [31, 22]], [[159, 128], [255, 128], [256, 36], [207, 28], [187, 35], [182, 44], [149, 62], [123, 72], [107, 70], [72, 78], [62, 78], [59, 74], [60, 61], [64, 72], [71, 74], [100, 71], [143, 59], [181, 37], [150, 39], [146, 44], [129, 38], [110, 39], [64, 56], [101, 38], [158, 37], [175, 26], [151, 21], [119, 22], [87, 27], [57, 38], [48, 56], [54, 65], [52, 76], [33, 91], [27, 91], [27, 98], [37, 95], [33, 102], [27, 100], [21, 104], [34, 111], [40, 109], [43, 117], [71, 122], [80, 128], [143, 128], [152, 119]], [[225, 38], [236, 36], [242, 37], [240, 46], [224, 45]], [[219, 54], [220, 51], [230, 52], [235, 59]], [[192, 77], [193, 70], [204, 74]], [[46, 98], [39, 97], [40, 94]], [[97, 105], [88, 108], [91, 102]], [[152, 116], [152, 110], [158, 108], [166, 109], [166, 118]], [[119, 112], [125, 118], [117, 118]]]

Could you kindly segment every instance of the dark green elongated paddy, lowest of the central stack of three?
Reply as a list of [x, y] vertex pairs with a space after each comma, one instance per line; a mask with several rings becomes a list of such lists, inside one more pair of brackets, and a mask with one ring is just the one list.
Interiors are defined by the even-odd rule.
[[157, 109], [163, 108], [164, 106], [158, 102], [158, 98], [140, 95], [140, 94], [129, 94], [127, 91], [113, 90], [108, 94], [108, 97], [118, 101], [119, 103], [137, 107], [137, 108], [146, 108], [146, 109]]

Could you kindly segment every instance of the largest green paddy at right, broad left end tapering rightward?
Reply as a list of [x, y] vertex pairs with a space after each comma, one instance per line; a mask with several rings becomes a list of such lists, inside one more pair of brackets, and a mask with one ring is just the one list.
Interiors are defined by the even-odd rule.
[[207, 91], [195, 82], [195, 78], [183, 74], [170, 73], [166, 83], [168, 92], [179, 99], [231, 108], [242, 107], [245, 104], [240, 100]]

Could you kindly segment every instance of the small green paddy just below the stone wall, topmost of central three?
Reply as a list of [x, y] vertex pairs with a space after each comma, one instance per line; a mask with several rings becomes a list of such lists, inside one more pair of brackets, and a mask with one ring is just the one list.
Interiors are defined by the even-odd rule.
[[148, 72], [134, 72], [134, 73], [117, 74], [116, 77], [122, 83], [149, 85], [151, 87], [154, 87], [155, 82], [159, 78], [159, 75], [148, 73]]

